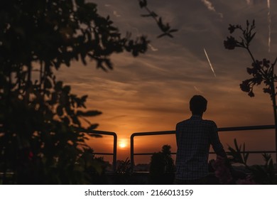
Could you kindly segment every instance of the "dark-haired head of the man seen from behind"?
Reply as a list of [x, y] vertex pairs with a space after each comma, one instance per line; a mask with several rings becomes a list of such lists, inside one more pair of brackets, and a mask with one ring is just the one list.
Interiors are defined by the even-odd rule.
[[195, 95], [190, 99], [190, 111], [192, 114], [202, 115], [207, 109], [207, 99], [201, 95]]

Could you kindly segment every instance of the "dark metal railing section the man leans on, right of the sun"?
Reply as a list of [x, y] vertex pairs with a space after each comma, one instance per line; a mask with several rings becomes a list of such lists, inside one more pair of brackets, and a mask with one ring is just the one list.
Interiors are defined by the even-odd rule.
[[[248, 131], [248, 130], [264, 130], [264, 129], [275, 129], [275, 125], [262, 125], [262, 126], [249, 126], [249, 127], [223, 127], [218, 128], [219, 132], [222, 131]], [[168, 135], [168, 134], [175, 134], [175, 131], [153, 131], [153, 132], [139, 132], [131, 134], [131, 171], [134, 171], [134, 156], [146, 156], [152, 155], [153, 153], [134, 153], [134, 137], [135, 136], [155, 136], [155, 135]], [[277, 144], [277, 143], [276, 143]], [[245, 151], [249, 154], [261, 154], [261, 153], [275, 153], [277, 151]], [[171, 154], [176, 154], [173, 152]], [[214, 152], [210, 152], [210, 154], [214, 154]], [[277, 154], [276, 154], [277, 156]]]

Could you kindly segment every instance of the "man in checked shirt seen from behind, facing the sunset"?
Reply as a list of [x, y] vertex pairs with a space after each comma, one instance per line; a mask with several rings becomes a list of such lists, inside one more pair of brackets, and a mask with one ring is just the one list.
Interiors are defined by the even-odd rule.
[[217, 124], [202, 119], [207, 109], [207, 99], [195, 95], [190, 99], [190, 119], [176, 125], [176, 174], [177, 184], [205, 184], [208, 175], [210, 145], [217, 156], [226, 158], [217, 134]]

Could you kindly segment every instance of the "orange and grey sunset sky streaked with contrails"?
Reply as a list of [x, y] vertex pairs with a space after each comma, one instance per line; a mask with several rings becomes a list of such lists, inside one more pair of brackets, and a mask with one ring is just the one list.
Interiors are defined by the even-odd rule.
[[[263, 86], [254, 87], [255, 97], [242, 92], [239, 84], [251, 76], [246, 67], [251, 58], [244, 49], [224, 49], [229, 24], [246, 26], [246, 19], [256, 21], [256, 36], [251, 50], [256, 59], [273, 62], [277, 55], [277, 1], [266, 0], [148, 0], [148, 7], [177, 28], [174, 38], [161, 34], [152, 18], [136, 0], [95, 0], [99, 14], [110, 16], [123, 35], [146, 35], [151, 41], [144, 55], [112, 55], [114, 70], [104, 72], [94, 62], [86, 66], [72, 63], [57, 77], [71, 85], [72, 93], [89, 95], [88, 109], [102, 112], [89, 120], [98, 130], [113, 131], [118, 136], [118, 158], [130, 156], [130, 136], [134, 132], [169, 131], [190, 117], [188, 102], [193, 95], [208, 100], [204, 119], [217, 127], [241, 127], [273, 124], [273, 108]], [[270, 11], [270, 12], [269, 12]], [[269, 16], [269, 18], [268, 18]], [[270, 20], [269, 20], [270, 19]], [[270, 43], [268, 44], [268, 38]], [[204, 50], [205, 49], [205, 50]], [[212, 64], [212, 71], [207, 56]], [[249, 150], [274, 150], [273, 131], [220, 133], [227, 149], [234, 138]], [[97, 152], [112, 152], [112, 138], [104, 136], [88, 143]], [[147, 136], [135, 139], [135, 152], [161, 150], [170, 144], [176, 150], [174, 136]], [[108, 158], [109, 159], [109, 158]], [[139, 157], [136, 163], [148, 162]]]

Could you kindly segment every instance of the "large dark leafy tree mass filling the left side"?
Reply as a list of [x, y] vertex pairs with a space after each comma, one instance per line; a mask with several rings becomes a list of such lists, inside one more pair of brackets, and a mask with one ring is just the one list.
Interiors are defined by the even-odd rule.
[[84, 0], [1, 1], [0, 29], [2, 182], [9, 171], [12, 183], [87, 183], [84, 154], [92, 149], [85, 139], [99, 135], [86, 118], [101, 112], [85, 110], [87, 95], [73, 95], [54, 70], [88, 59], [111, 70], [113, 53], [145, 53], [146, 36], [121, 36]]

